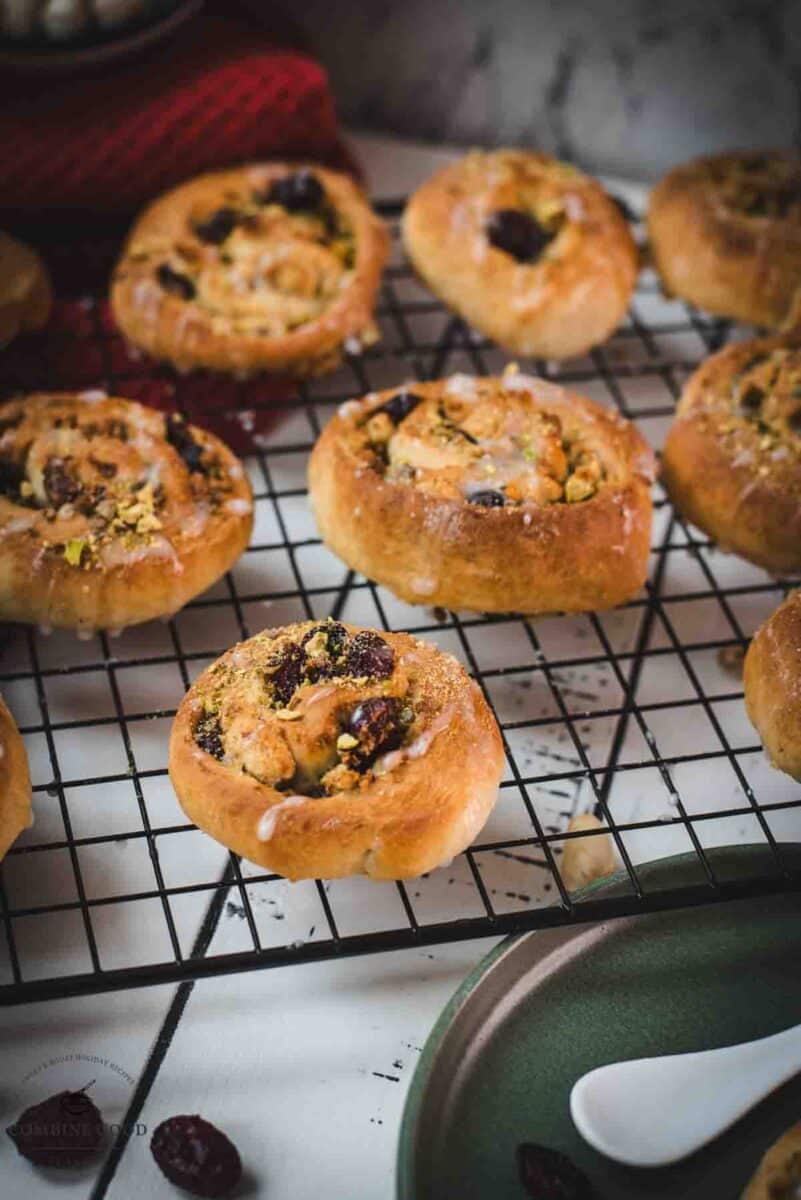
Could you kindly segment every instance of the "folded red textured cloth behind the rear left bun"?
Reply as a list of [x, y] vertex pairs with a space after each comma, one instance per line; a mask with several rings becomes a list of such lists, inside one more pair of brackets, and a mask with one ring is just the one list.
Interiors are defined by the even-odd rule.
[[132, 214], [198, 172], [267, 157], [342, 163], [314, 59], [201, 16], [130, 62], [0, 80], [0, 205]]

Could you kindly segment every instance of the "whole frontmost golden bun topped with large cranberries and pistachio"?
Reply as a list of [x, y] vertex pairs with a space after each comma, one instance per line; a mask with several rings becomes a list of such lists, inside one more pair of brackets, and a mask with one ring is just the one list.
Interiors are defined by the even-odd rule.
[[408, 634], [303, 622], [241, 642], [177, 710], [187, 816], [290, 880], [432, 870], [476, 836], [504, 751], [477, 685]]

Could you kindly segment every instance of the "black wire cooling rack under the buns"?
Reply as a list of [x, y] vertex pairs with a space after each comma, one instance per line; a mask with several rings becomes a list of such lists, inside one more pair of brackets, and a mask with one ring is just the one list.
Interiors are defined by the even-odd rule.
[[[393, 226], [399, 208], [384, 205]], [[100, 296], [72, 296], [65, 311], [61, 358], [43, 352], [31, 366], [29, 347], [23, 383], [167, 397], [203, 422], [199, 377], [126, 350]], [[379, 318], [379, 344], [291, 394], [253, 380], [201, 380], [211, 397], [206, 424], [227, 421], [229, 434], [248, 444], [257, 497], [253, 545], [216, 588], [169, 623], [119, 638], [5, 631], [0, 688], [26, 739], [36, 821], [2, 868], [0, 1002], [801, 884], [790, 850], [801, 841], [801, 788], [767, 767], [745, 718], [739, 674], [748, 637], [788, 583], [719, 553], [658, 487], [649, 584], [612, 613], [526, 620], [411, 608], [320, 546], [305, 463], [338, 403], [410, 378], [492, 373], [506, 362], [418, 286], [397, 229]], [[522, 367], [615, 404], [658, 446], [687, 373], [730, 336], [736, 331], [725, 323], [662, 296], [645, 271], [626, 323], [606, 346], [564, 365]], [[78, 364], [76, 378], [65, 354]], [[5, 385], [19, 386], [18, 368], [19, 360], [13, 370], [4, 360]], [[408, 629], [452, 650], [501, 724], [507, 769], [495, 812], [465, 854], [422, 880], [288, 884], [188, 824], [169, 787], [169, 724], [192, 678], [265, 625], [327, 613]], [[628, 883], [615, 899], [576, 900], [561, 878], [567, 838], [600, 836], [566, 834], [582, 811], [600, 815], [614, 839]], [[761, 852], [721, 874], [723, 859], [711, 851], [730, 842], [757, 842]], [[640, 863], [682, 851], [694, 860], [693, 883], [657, 892], [643, 883]]]

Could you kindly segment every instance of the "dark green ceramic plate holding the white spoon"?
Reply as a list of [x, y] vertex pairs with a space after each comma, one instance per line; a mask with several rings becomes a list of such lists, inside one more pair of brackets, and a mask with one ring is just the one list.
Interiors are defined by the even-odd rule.
[[[710, 857], [730, 877], [759, 874], [764, 853]], [[646, 888], [681, 886], [695, 882], [697, 859], [638, 871]], [[596, 896], [625, 886], [613, 877]], [[399, 1200], [524, 1200], [522, 1141], [570, 1154], [604, 1200], [736, 1200], [766, 1146], [801, 1120], [801, 1076], [692, 1158], [650, 1170], [619, 1166], [580, 1139], [571, 1087], [606, 1062], [728, 1045], [799, 1021], [799, 893], [504, 942], [426, 1044], [401, 1130]]]

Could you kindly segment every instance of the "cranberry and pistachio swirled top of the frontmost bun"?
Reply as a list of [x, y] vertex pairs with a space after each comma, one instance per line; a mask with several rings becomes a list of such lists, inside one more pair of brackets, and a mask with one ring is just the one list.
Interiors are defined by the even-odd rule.
[[331, 618], [235, 647], [206, 676], [200, 750], [289, 796], [367, 787], [415, 756], [423, 712], [414, 671], [373, 630]]

